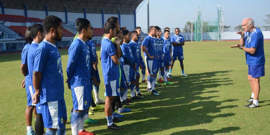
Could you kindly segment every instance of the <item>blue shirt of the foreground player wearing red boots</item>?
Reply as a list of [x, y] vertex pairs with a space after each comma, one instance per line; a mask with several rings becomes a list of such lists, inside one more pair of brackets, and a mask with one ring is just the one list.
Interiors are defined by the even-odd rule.
[[75, 63], [73, 76], [70, 78], [71, 89], [90, 85], [91, 60], [89, 47], [77, 37], [68, 49], [68, 62]]

